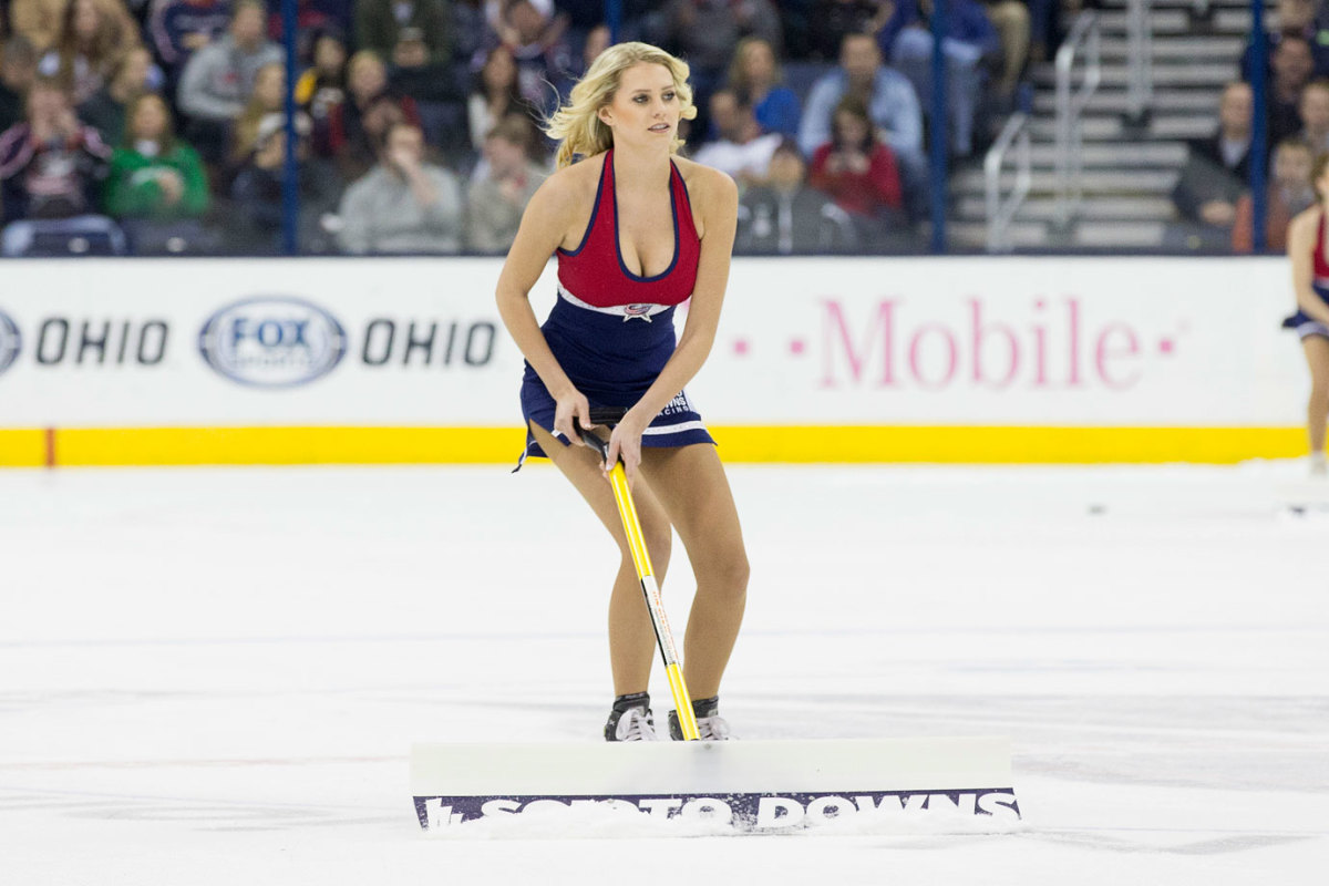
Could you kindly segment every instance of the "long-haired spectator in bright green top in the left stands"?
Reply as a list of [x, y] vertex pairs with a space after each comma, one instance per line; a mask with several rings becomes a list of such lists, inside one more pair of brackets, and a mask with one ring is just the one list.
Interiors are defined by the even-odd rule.
[[125, 116], [125, 141], [110, 158], [106, 211], [117, 219], [154, 222], [207, 211], [207, 175], [198, 151], [175, 137], [170, 109], [146, 93]]

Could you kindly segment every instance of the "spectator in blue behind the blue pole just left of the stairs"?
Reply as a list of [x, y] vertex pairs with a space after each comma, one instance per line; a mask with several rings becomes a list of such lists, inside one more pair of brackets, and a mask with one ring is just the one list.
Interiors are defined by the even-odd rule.
[[[933, 0], [896, 0], [894, 13], [878, 40], [885, 57], [913, 84], [924, 110], [932, 113], [932, 17]], [[983, 98], [987, 68], [1001, 58], [1001, 39], [977, 0], [948, 0], [946, 106], [949, 147], [969, 157], [974, 146], [974, 113]], [[936, 121], [932, 122], [936, 129]]]

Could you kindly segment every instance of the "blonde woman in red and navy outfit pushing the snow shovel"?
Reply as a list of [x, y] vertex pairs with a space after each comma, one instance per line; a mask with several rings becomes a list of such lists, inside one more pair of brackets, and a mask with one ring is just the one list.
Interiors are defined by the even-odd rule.
[[[691, 120], [687, 65], [639, 43], [610, 46], [549, 121], [558, 171], [536, 191], [498, 279], [498, 311], [526, 357], [526, 454], [548, 456], [618, 542], [609, 602], [614, 704], [609, 741], [657, 739], [647, 684], [655, 640], [606, 464], [573, 420], [626, 410], [607, 430], [621, 456], [657, 578], [678, 530], [696, 575], [684, 675], [704, 739], [724, 739], [720, 677], [747, 599], [748, 563], [724, 469], [683, 387], [706, 363], [730, 272], [738, 187], [676, 157]], [[574, 162], [578, 161], [578, 162]], [[558, 299], [544, 325], [528, 294], [558, 258]], [[674, 308], [691, 298], [675, 340]], [[676, 716], [670, 732], [678, 737]]]

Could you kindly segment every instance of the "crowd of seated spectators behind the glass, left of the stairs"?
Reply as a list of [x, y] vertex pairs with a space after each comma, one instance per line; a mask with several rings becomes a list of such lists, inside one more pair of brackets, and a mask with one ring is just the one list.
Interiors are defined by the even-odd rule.
[[[949, 0], [957, 162], [1082, 3]], [[619, 37], [690, 62], [686, 150], [739, 182], [740, 250], [898, 251], [926, 214], [932, 4], [623, 0]], [[538, 121], [609, 44], [603, 16], [298, 0], [288, 126], [275, 0], [0, 0], [0, 252], [279, 252], [292, 132], [300, 251], [501, 254], [552, 171]]]

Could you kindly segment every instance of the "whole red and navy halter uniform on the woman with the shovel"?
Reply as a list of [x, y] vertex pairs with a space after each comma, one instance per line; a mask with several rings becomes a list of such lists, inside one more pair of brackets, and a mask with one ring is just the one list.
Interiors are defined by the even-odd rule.
[[[575, 250], [560, 248], [558, 300], [541, 327], [558, 365], [591, 408], [630, 409], [655, 383], [674, 353], [674, 308], [692, 295], [702, 240], [678, 167], [670, 162], [674, 259], [655, 276], [627, 270], [618, 243], [614, 151], [605, 153], [586, 234]], [[526, 364], [521, 409], [529, 422], [553, 433], [554, 399]], [[711, 442], [702, 417], [682, 391], [642, 434], [643, 446]], [[529, 429], [526, 454], [544, 456]]]

